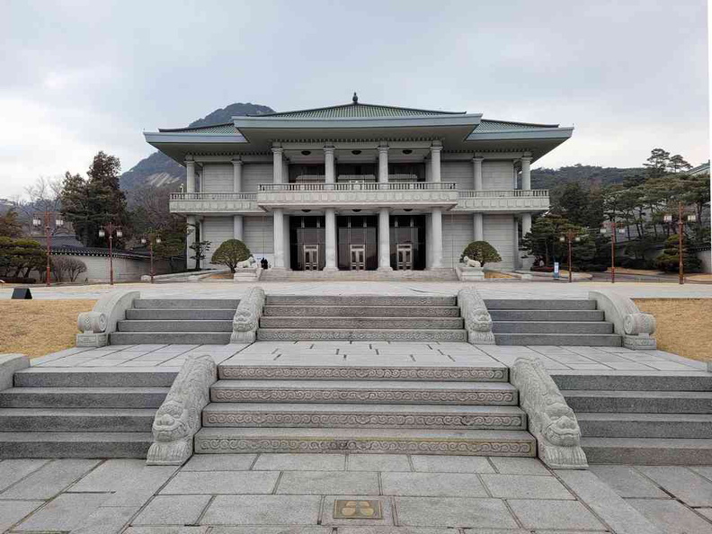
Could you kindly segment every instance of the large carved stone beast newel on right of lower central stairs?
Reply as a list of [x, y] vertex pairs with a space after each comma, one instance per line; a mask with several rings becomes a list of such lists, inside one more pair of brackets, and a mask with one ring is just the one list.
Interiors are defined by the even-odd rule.
[[576, 415], [544, 364], [518, 358], [510, 376], [512, 386], [519, 389], [521, 409], [529, 416], [529, 430], [537, 438], [539, 459], [555, 469], [588, 467]]

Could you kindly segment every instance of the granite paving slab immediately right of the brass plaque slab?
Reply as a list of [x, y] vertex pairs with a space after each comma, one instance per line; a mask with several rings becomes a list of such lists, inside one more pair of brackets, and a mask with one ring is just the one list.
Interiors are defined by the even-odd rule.
[[477, 527], [516, 529], [500, 499], [395, 497], [396, 517], [411, 527]]

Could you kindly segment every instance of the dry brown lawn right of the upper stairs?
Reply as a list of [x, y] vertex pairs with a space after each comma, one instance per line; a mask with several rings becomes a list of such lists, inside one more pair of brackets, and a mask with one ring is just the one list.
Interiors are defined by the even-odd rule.
[[712, 298], [635, 298], [657, 321], [658, 349], [712, 360]]

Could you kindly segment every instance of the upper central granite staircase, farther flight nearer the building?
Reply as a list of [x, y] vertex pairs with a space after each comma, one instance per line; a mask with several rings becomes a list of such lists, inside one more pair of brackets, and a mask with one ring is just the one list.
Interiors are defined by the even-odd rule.
[[467, 341], [455, 297], [268, 295], [267, 340]]

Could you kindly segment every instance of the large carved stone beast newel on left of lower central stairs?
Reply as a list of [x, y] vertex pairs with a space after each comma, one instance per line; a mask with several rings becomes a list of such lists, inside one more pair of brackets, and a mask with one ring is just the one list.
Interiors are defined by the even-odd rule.
[[217, 380], [218, 368], [209, 354], [185, 361], [156, 412], [149, 466], [182, 466], [191, 458], [193, 436], [200, 430], [202, 409], [210, 402], [210, 386]]

